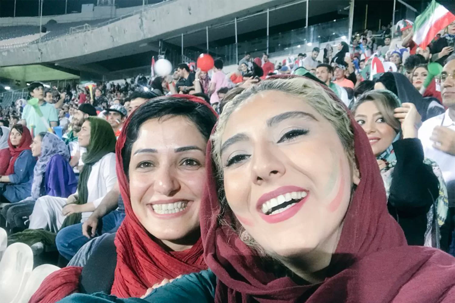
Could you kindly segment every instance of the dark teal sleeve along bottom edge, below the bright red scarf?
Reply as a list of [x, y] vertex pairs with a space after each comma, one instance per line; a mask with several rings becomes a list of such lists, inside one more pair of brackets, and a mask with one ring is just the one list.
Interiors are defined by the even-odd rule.
[[94, 293], [92, 295], [75, 293], [60, 300], [60, 303], [213, 303], [217, 277], [210, 270], [203, 270], [199, 273], [190, 273], [178, 278], [172, 283], [155, 288], [151, 294], [144, 299], [127, 298], [119, 299], [105, 293]]

